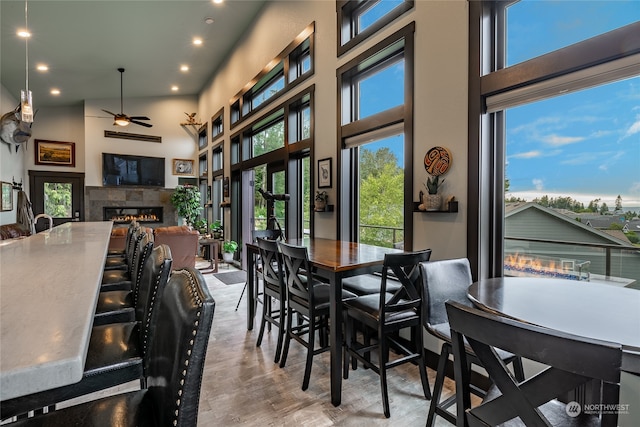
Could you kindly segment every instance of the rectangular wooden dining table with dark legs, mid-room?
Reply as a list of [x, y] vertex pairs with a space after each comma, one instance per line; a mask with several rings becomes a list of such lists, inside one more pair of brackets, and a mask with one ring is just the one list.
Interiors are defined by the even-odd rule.
[[[363, 243], [332, 239], [287, 240], [296, 246], [305, 246], [314, 274], [331, 285], [330, 355], [331, 355], [331, 403], [340, 405], [342, 399], [342, 279], [380, 270], [384, 256], [400, 253], [399, 249], [383, 248]], [[255, 317], [255, 258], [259, 248], [247, 243], [247, 329], [253, 329]]]

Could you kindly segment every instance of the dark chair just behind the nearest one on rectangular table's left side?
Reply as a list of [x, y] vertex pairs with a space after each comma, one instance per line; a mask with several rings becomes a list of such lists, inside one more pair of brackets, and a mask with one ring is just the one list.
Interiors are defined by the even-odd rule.
[[[282, 260], [278, 251], [278, 243], [275, 240], [258, 238], [260, 248], [260, 264], [262, 271], [260, 275], [263, 283], [262, 318], [260, 321], [260, 332], [256, 347], [262, 344], [265, 325], [269, 324], [278, 328], [278, 341], [276, 344], [276, 354], [273, 363], [278, 363], [282, 352], [282, 341], [285, 334], [285, 320], [287, 310], [287, 290], [284, 284]], [[273, 302], [276, 301], [274, 308]]]

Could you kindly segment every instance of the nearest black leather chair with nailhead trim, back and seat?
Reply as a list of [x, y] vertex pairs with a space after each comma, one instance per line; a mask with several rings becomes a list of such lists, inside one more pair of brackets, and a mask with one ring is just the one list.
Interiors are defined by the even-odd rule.
[[26, 418], [16, 427], [195, 427], [215, 302], [195, 269], [177, 270], [157, 309], [147, 388]]

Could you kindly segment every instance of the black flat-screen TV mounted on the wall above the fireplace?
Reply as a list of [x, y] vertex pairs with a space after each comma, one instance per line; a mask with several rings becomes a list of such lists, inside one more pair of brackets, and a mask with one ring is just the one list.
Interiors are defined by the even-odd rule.
[[102, 153], [102, 185], [164, 187], [164, 158]]

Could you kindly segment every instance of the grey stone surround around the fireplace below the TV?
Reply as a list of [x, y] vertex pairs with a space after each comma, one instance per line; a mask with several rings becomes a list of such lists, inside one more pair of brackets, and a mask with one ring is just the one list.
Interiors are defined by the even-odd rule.
[[[156, 207], [162, 206], [162, 222], [148, 224], [149, 227], [178, 225], [176, 209], [169, 201], [172, 188], [157, 187], [86, 187], [85, 217], [87, 221], [103, 221], [106, 207]], [[114, 224], [114, 228], [126, 224]]]

